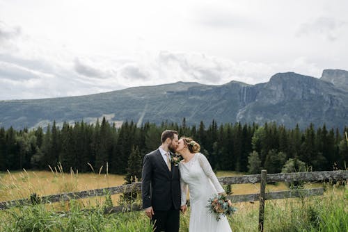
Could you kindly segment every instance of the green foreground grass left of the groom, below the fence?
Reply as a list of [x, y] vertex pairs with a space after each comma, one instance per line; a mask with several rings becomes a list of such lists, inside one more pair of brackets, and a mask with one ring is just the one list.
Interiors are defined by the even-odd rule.
[[69, 212], [35, 205], [6, 210], [0, 215], [1, 231], [152, 231], [139, 212], [104, 215], [103, 207], [86, 210], [77, 201], [70, 201]]

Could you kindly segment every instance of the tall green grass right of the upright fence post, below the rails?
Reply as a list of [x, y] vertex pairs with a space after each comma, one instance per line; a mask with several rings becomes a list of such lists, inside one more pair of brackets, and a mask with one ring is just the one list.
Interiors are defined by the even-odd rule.
[[326, 187], [324, 197], [269, 201], [267, 231], [348, 231], [347, 186]]

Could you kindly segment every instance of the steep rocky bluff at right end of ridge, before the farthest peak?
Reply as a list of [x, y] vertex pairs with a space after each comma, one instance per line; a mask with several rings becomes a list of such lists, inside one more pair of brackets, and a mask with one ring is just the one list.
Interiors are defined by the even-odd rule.
[[348, 124], [348, 91], [332, 83], [292, 72], [276, 74], [258, 92], [255, 101], [239, 110], [237, 120], [275, 121], [294, 127]]

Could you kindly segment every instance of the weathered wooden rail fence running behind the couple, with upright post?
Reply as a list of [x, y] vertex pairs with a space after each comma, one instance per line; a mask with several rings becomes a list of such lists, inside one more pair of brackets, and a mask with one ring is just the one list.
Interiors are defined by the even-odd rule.
[[[266, 192], [266, 183], [270, 182], [293, 182], [293, 181], [346, 181], [348, 179], [348, 171], [329, 171], [329, 172], [294, 172], [294, 173], [278, 173], [267, 174], [266, 170], [262, 170], [261, 174], [245, 175], [245, 176], [226, 176], [220, 177], [219, 181], [223, 185], [239, 184], [239, 183], [261, 183], [260, 193], [230, 195], [228, 198], [234, 202], [243, 201], [260, 201], [259, 212], [259, 231], [263, 231], [264, 222], [264, 204], [265, 200], [285, 199], [292, 197], [309, 197], [324, 194], [323, 188], [298, 189], [278, 192]], [[120, 185], [111, 188], [100, 188], [95, 190], [86, 190], [80, 192], [66, 192], [49, 196], [39, 197], [31, 194], [29, 199], [17, 199], [13, 201], [0, 202], [0, 210], [5, 210], [15, 206], [24, 206], [29, 204], [48, 204], [59, 201], [69, 201], [70, 199], [84, 199], [89, 197], [100, 197], [106, 194], [121, 194], [129, 192], [140, 192], [141, 183], [136, 182], [129, 185]], [[129, 210], [141, 210], [141, 206], [116, 206], [106, 209], [108, 213], [126, 212]]]

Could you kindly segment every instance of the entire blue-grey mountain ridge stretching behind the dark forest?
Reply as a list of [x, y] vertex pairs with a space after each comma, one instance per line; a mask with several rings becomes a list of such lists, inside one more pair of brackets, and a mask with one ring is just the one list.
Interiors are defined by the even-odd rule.
[[101, 117], [119, 126], [125, 120], [180, 123], [185, 117], [188, 124], [215, 119], [304, 128], [313, 122], [342, 129], [348, 122], [348, 90], [342, 88], [347, 76], [342, 73], [348, 72], [324, 70], [322, 78], [279, 73], [257, 85], [177, 82], [80, 97], [0, 101], [0, 126], [30, 129], [54, 120], [59, 126]]

